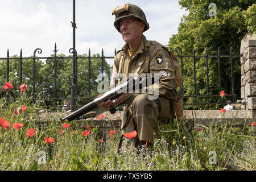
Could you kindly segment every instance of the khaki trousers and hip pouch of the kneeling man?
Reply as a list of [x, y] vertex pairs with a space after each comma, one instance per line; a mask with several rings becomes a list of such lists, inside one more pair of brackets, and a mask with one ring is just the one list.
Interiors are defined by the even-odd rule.
[[170, 100], [166, 97], [158, 97], [150, 100], [148, 94], [138, 94], [126, 106], [122, 121], [122, 133], [137, 131], [137, 137], [133, 139], [135, 147], [147, 142], [153, 143], [159, 125], [165, 125], [173, 118]]

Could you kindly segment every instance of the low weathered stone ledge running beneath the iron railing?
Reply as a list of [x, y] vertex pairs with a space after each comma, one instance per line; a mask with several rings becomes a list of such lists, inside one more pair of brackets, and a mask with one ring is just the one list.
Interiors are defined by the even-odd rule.
[[[93, 127], [100, 128], [119, 128], [121, 127], [121, 121], [123, 117], [123, 111], [117, 111], [115, 114], [110, 114], [106, 111], [104, 117], [100, 120], [97, 117], [77, 120], [79, 127], [85, 126], [85, 121]], [[41, 113], [41, 122], [49, 122], [49, 119], [53, 117], [64, 117], [64, 113]], [[250, 125], [255, 118], [252, 117], [253, 111], [251, 110], [227, 110], [224, 114], [218, 110], [184, 110], [183, 119], [181, 122], [186, 122], [187, 126], [193, 127], [195, 125], [227, 125], [227, 126], [243, 126]], [[60, 121], [60, 124], [63, 123]]]

